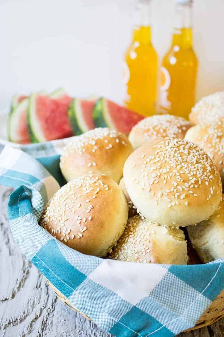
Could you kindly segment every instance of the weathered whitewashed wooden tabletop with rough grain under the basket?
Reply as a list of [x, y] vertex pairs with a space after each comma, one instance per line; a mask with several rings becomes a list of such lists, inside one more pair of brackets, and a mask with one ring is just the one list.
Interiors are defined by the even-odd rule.
[[[11, 191], [0, 186], [0, 336], [111, 337], [62, 304], [14, 243], [7, 220]], [[223, 336], [224, 319], [210, 327], [179, 334], [179, 337]]]

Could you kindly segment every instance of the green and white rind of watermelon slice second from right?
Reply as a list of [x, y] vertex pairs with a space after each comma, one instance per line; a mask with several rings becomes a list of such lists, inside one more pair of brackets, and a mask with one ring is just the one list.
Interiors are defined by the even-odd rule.
[[71, 101], [69, 106], [69, 121], [72, 127], [72, 131], [74, 136], [78, 136], [84, 132], [89, 130], [88, 125], [86, 125], [85, 120], [83, 119], [83, 111], [81, 108], [81, 100], [78, 98], [74, 98]]

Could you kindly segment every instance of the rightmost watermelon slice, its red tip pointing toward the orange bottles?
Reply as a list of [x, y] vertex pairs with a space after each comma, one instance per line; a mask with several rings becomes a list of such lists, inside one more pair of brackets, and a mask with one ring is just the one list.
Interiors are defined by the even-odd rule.
[[123, 133], [129, 133], [143, 118], [145, 117], [102, 97], [93, 109], [95, 127], [109, 127]]

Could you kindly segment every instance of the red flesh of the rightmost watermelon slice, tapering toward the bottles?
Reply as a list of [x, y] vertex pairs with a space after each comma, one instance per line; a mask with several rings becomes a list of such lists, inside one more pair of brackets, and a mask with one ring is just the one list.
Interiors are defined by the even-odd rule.
[[106, 100], [106, 106], [107, 112], [109, 113], [116, 130], [123, 133], [129, 133], [135, 124], [145, 118], [144, 116], [141, 116], [108, 99]]

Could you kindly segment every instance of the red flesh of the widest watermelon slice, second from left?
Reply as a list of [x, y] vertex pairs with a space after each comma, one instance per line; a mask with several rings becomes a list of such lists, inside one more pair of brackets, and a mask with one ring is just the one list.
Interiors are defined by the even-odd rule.
[[64, 95], [59, 99], [37, 96], [36, 114], [46, 140], [61, 139], [73, 135], [68, 118], [71, 97]]

